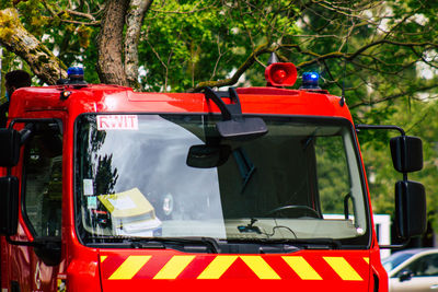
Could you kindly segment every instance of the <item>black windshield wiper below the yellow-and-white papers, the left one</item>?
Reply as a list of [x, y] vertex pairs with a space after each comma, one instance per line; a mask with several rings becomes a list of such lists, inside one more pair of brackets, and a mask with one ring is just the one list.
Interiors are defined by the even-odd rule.
[[[182, 252], [219, 254], [218, 240], [212, 237], [131, 237], [131, 236], [93, 236], [89, 245], [127, 244], [131, 248], [172, 248]], [[199, 248], [201, 247], [201, 248]]]

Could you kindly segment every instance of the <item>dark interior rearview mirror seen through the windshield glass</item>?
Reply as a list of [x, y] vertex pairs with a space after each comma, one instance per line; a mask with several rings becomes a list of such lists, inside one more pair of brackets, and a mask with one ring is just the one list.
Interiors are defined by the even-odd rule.
[[222, 165], [231, 154], [229, 145], [193, 145], [188, 150], [186, 164], [197, 168], [211, 168]]

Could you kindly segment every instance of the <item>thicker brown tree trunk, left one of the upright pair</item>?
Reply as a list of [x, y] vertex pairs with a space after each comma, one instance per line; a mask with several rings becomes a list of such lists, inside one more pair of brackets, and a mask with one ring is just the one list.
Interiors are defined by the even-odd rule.
[[97, 36], [97, 73], [101, 82], [127, 86], [122, 55], [123, 30], [129, 0], [107, 0]]

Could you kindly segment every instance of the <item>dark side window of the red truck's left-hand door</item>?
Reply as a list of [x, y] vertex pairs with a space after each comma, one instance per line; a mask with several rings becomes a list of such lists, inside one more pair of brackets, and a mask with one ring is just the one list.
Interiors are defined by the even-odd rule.
[[58, 124], [34, 124], [34, 131], [24, 151], [25, 218], [34, 236], [60, 236], [62, 136]]

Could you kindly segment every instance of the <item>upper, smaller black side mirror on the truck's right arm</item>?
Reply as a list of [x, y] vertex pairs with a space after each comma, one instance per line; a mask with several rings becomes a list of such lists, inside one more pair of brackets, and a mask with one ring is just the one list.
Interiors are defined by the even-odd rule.
[[400, 173], [417, 172], [423, 168], [422, 139], [399, 136], [390, 140], [392, 163]]

